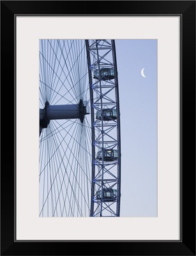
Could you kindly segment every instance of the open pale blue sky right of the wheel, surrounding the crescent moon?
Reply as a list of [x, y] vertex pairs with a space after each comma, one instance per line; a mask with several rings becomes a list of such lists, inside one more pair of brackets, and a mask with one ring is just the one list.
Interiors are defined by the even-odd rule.
[[[121, 217], [157, 216], [157, 40], [116, 40]], [[142, 77], [141, 70], [144, 68]]]

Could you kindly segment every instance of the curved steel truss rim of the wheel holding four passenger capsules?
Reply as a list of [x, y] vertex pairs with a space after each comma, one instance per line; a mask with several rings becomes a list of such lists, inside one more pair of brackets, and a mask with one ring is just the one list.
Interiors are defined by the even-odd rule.
[[[121, 140], [115, 43], [86, 40], [86, 47], [93, 145], [91, 216], [116, 217], [120, 212]], [[111, 109], [115, 109], [115, 118], [107, 115]], [[101, 113], [98, 118], [96, 113]]]

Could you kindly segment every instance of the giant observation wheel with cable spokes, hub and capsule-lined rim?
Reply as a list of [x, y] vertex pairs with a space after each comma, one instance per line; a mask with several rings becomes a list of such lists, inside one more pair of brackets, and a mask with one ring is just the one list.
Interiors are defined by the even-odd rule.
[[42, 217], [120, 216], [114, 40], [40, 40]]

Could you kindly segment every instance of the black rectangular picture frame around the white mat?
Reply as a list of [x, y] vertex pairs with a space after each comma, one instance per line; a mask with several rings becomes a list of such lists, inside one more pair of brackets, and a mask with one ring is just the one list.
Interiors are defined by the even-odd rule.
[[[181, 17], [180, 241], [15, 241], [16, 15]], [[195, 1], [1, 1], [1, 255], [195, 255]]]

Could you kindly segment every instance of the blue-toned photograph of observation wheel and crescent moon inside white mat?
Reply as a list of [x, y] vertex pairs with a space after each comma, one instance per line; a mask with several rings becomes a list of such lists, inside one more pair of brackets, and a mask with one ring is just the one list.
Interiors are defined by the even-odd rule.
[[157, 40], [39, 44], [39, 216], [156, 217]]

